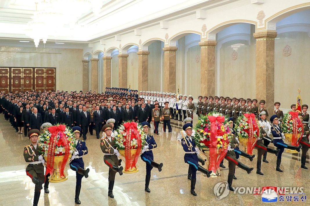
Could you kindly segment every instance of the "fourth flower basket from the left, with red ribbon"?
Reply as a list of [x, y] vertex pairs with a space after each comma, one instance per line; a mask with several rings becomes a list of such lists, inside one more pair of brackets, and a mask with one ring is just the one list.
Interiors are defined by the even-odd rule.
[[244, 114], [238, 117], [235, 126], [235, 135], [244, 146], [245, 152], [253, 154], [256, 141], [259, 137], [259, 127], [254, 114]]

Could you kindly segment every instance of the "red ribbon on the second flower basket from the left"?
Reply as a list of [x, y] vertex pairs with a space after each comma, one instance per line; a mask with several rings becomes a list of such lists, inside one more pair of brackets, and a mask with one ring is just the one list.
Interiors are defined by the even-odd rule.
[[[125, 170], [131, 170], [132, 168], [136, 168], [136, 163], [138, 161], [140, 152], [141, 152], [141, 135], [137, 129], [138, 123], [137, 122], [126, 122], [123, 124], [126, 130], [126, 137], [125, 137]], [[133, 161], [131, 161], [131, 140], [137, 140], [137, 151], [135, 153], [135, 157]]]

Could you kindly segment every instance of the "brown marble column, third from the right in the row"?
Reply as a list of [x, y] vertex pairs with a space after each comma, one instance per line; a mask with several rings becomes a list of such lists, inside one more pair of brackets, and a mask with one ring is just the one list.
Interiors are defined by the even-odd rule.
[[176, 92], [176, 46], [168, 46], [162, 48], [164, 51], [164, 92]]

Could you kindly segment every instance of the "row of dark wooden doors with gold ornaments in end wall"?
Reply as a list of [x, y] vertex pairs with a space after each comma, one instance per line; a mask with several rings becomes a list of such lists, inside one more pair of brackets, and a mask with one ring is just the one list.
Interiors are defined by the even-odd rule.
[[0, 67], [0, 90], [5, 93], [55, 90], [55, 68]]

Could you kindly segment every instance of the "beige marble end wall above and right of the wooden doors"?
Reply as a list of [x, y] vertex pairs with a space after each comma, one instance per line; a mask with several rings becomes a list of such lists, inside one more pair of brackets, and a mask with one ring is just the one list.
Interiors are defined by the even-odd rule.
[[[3, 57], [10, 56], [5, 60]], [[55, 67], [56, 89], [82, 90], [83, 49], [0, 47], [1, 67]]]

